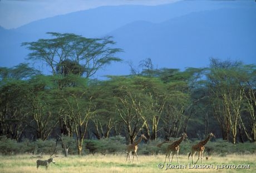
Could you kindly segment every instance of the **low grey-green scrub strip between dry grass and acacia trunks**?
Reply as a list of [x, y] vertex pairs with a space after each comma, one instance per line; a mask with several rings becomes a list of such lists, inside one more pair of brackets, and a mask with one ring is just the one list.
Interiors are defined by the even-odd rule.
[[[76, 155], [77, 146], [73, 139], [68, 139], [66, 141], [69, 145], [68, 154]], [[165, 154], [166, 148], [171, 143], [166, 143], [157, 147], [163, 140], [155, 140], [147, 142], [144, 144], [141, 142], [139, 144], [139, 149], [137, 151], [140, 155], [157, 155]], [[199, 140], [191, 141], [185, 140], [180, 144], [180, 155], [187, 155], [191, 151], [191, 146], [198, 144]], [[126, 140], [122, 136], [109, 137], [108, 139], [101, 140], [85, 140], [85, 150], [89, 154], [124, 154], [126, 152]], [[56, 147], [56, 140], [50, 139], [47, 141], [36, 140], [29, 141], [24, 140], [23, 142], [17, 142], [12, 139], [8, 139], [6, 136], [0, 136], [0, 154], [11, 155], [11, 154], [52, 154]], [[61, 142], [57, 144], [57, 152], [62, 152]], [[256, 145], [254, 143], [245, 142], [233, 145], [230, 142], [223, 140], [216, 140], [214, 142], [209, 141], [205, 145], [204, 155], [221, 155], [225, 156], [227, 154], [255, 154]], [[58, 154], [58, 153], [55, 153]]]

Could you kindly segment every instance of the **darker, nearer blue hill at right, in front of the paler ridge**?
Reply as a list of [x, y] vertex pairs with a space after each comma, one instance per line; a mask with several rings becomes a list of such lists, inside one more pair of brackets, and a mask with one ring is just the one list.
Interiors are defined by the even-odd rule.
[[210, 57], [255, 63], [253, 21], [254, 10], [223, 8], [161, 23], [133, 22], [110, 35], [124, 48], [124, 59], [151, 58], [159, 68], [205, 67]]

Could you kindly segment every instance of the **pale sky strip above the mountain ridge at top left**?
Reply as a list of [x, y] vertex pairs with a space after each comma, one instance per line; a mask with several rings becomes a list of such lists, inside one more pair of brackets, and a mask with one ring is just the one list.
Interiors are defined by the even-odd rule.
[[156, 6], [177, 1], [181, 0], [0, 0], [0, 26], [12, 29], [38, 19], [100, 6]]

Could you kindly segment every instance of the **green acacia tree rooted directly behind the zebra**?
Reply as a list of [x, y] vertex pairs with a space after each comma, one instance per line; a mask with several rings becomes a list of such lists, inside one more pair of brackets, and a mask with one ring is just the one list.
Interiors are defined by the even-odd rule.
[[52, 78], [35, 76], [29, 80], [29, 92], [26, 95], [28, 115], [31, 117], [31, 126], [36, 131], [38, 139], [46, 140], [57, 126], [55, 93], [51, 92]]

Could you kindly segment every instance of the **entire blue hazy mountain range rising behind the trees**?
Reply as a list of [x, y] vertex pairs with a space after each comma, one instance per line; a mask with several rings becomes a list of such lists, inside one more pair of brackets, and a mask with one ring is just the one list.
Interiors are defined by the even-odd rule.
[[[41, 19], [16, 29], [0, 27], [0, 66], [24, 62], [22, 42], [46, 38], [46, 32], [85, 37], [114, 36], [120, 57], [135, 62], [151, 58], [155, 66], [204, 67], [209, 57], [255, 63], [254, 1], [181, 1], [161, 6], [100, 7]], [[129, 73], [123, 63], [102, 75]]]

